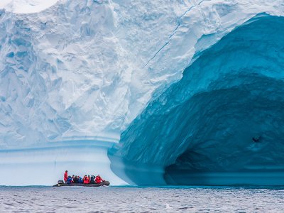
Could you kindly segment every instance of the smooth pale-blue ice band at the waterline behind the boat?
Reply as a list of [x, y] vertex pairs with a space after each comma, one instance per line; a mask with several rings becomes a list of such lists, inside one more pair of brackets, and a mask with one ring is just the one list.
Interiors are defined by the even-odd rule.
[[[103, 140], [105, 139], [105, 140]], [[30, 148], [0, 151], [1, 185], [55, 185], [70, 175], [101, 175], [111, 185], [127, 185], [109, 168], [107, 150], [113, 143], [106, 138], [85, 138], [45, 143]]]

